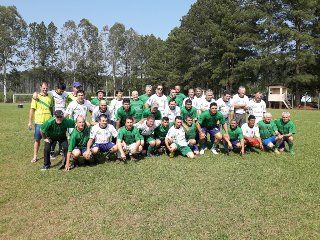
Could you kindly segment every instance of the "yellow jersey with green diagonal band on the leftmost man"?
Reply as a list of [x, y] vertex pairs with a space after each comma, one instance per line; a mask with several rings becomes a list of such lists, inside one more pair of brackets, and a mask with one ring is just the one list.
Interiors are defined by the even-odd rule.
[[35, 124], [44, 124], [51, 115], [50, 107], [53, 105], [53, 97], [48, 94], [47, 96], [42, 96], [38, 93], [38, 99], [32, 99], [31, 108], [35, 109]]

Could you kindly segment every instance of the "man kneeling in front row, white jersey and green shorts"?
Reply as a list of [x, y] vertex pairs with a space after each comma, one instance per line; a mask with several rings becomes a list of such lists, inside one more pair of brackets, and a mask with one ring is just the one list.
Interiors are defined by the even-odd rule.
[[[172, 142], [170, 146], [169, 140], [170, 142]], [[170, 157], [173, 157], [174, 151], [178, 150], [183, 156], [187, 156], [191, 159], [195, 158], [195, 155], [188, 147], [185, 131], [182, 127], [181, 116], [176, 116], [174, 125], [169, 129], [167, 135], [165, 136], [164, 142], [168, 150], [171, 152]]]

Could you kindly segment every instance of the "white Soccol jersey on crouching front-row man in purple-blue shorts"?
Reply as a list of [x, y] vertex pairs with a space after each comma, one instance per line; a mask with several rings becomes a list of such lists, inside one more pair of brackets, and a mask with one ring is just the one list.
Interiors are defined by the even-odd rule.
[[101, 128], [100, 124], [96, 124], [90, 131], [90, 138], [94, 139], [94, 142], [99, 144], [110, 142], [111, 136], [117, 137], [118, 132], [115, 127], [110, 124], [107, 124], [106, 128]]

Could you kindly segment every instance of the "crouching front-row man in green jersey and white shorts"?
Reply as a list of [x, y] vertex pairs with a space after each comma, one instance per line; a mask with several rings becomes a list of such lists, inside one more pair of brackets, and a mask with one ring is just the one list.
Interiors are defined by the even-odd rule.
[[[125, 127], [119, 129], [117, 137], [118, 158], [125, 161], [126, 157], [124, 152], [129, 151], [128, 160], [136, 160], [132, 155], [142, 152], [140, 133], [136, 127], [133, 127], [133, 118], [127, 116], [125, 118]], [[122, 142], [125, 142], [126, 148], [123, 149]]]

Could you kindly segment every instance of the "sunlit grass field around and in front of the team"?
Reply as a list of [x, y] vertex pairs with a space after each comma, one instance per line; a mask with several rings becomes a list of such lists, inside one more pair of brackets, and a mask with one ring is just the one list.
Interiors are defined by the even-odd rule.
[[29, 107], [0, 104], [0, 239], [320, 239], [319, 111], [291, 111], [294, 156], [286, 145], [70, 172], [58, 156], [41, 172]]

